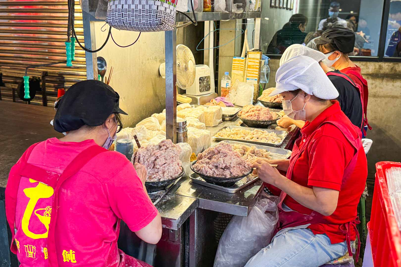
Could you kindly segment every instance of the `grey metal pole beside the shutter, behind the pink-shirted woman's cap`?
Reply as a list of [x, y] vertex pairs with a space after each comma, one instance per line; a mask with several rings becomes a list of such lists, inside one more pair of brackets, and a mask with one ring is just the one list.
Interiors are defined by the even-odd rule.
[[[83, 38], [85, 48], [89, 50], [96, 49], [95, 22], [90, 20], [89, 14], [82, 11]], [[86, 78], [88, 80], [97, 80], [97, 56], [96, 53], [85, 51], [86, 60]]]

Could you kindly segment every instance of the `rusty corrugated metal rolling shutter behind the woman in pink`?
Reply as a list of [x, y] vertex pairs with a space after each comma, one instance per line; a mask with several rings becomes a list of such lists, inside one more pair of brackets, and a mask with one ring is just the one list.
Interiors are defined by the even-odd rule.
[[[0, 67], [18, 68], [23, 74], [26, 66], [66, 60], [67, 19], [66, 0], [0, 0]], [[82, 13], [78, 0], [75, 0], [75, 30], [83, 43]], [[69, 88], [75, 82], [86, 79], [85, 51], [78, 44], [73, 65], [79, 68], [68, 68], [64, 64], [32, 69], [48, 72], [48, 106], [56, 100], [57, 88]], [[6, 88], [1, 90], [3, 100], [12, 99], [10, 88], [16, 88], [22, 76], [3, 74], [6, 84]], [[41, 92], [36, 92], [31, 103], [42, 104]]]

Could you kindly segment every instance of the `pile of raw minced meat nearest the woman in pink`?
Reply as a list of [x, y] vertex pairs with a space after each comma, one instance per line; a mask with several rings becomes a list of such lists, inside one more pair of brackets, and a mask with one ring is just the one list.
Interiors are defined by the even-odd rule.
[[148, 145], [134, 153], [133, 162], [145, 166], [148, 172], [147, 182], [159, 182], [176, 178], [181, 173], [181, 148], [170, 139], [158, 145]]

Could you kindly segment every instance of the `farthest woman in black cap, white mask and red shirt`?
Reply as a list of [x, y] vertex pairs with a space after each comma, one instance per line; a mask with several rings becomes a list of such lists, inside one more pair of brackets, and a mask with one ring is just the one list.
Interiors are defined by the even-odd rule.
[[[316, 39], [315, 42], [317, 50], [325, 54], [326, 60], [324, 60], [324, 63], [327, 66], [340, 70], [340, 72], [347, 74], [356, 84], [359, 84], [362, 89], [360, 94], [363, 99], [364, 127], [367, 126], [369, 130], [372, 130], [367, 119], [368, 82], [360, 73], [360, 68], [348, 57], [348, 53], [354, 50], [355, 33], [348, 28], [333, 28], [324, 31], [322, 36]], [[366, 135], [366, 131], [364, 130], [363, 132]]]

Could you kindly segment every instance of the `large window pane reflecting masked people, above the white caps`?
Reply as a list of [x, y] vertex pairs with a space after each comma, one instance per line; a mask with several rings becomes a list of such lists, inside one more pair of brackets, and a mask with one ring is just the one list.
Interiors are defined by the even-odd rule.
[[350, 56], [377, 56], [383, 4], [384, 0], [269, 0], [262, 9], [262, 50], [282, 54], [292, 44], [316, 49], [314, 40], [324, 30], [346, 27], [355, 32]]

